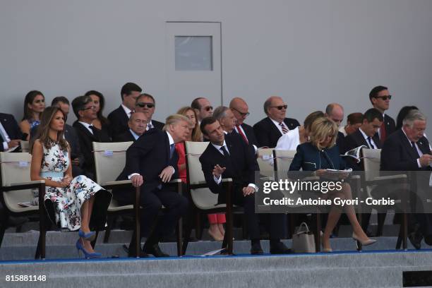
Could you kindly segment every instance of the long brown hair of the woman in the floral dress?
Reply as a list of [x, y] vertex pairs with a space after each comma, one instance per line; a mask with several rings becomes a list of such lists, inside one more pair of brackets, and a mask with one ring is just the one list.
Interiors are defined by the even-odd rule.
[[[49, 149], [52, 148], [52, 145], [54, 145], [54, 141], [49, 138], [49, 129], [51, 128], [51, 121], [54, 119], [54, 115], [57, 112], [61, 112], [63, 114], [64, 119], [66, 119], [66, 116], [64, 115], [64, 112], [61, 111], [59, 107], [56, 106], [50, 106], [47, 107], [47, 109], [44, 109], [44, 112], [42, 112], [42, 115], [40, 116], [40, 124], [37, 126], [37, 134], [34, 140], [40, 140], [40, 143], [44, 145], [45, 148]], [[65, 121], [66, 125], [66, 121]], [[57, 143], [59, 143], [59, 146], [61, 150], [67, 151], [69, 144], [68, 141], [64, 138], [64, 130], [57, 132]], [[34, 141], [31, 141], [30, 143], [30, 151], [32, 151]]]

